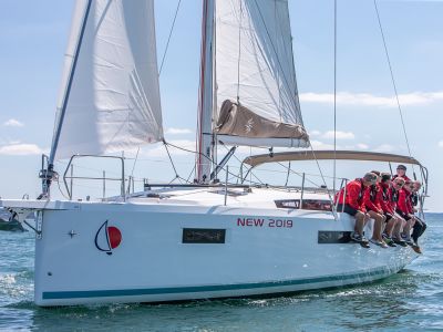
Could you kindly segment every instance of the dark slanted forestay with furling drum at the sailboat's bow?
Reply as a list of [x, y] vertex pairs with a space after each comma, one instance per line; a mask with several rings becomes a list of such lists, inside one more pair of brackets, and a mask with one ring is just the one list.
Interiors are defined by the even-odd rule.
[[70, 95], [70, 91], [71, 91], [71, 86], [72, 86], [72, 81], [74, 77], [74, 72], [75, 72], [75, 68], [76, 68], [76, 63], [78, 63], [78, 59], [79, 59], [80, 49], [82, 45], [84, 31], [86, 28], [87, 17], [89, 17], [89, 13], [91, 10], [91, 4], [92, 4], [92, 0], [87, 0], [87, 4], [85, 7], [85, 11], [84, 11], [83, 20], [82, 20], [79, 40], [78, 40], [76, 48], [75, 48], [75, 54], [74, 54], [74, 58], [72, 61], [71, 72], [70, 72], [70, 75], [68, 79], [66, 90], [64, 91], [63, 103], [62, 103], [62, 107], [60, 111], [60, 116], [55, 124], [55, 131], [54, 131], [54, 136], [52, 138], [51, 152], [50, 152], [49, 159], [48, 159], [48, 169], [42, 169], [40, 172], [40, 178], [42, 179], [42, 194], [39, 196], [39, 198], [49, 197], [51, 183], [52, 183], [53, 177], [55, 176], [55, 173], [54, 173], [55, 153], [56, 153], [56, 148], [59, 146], [60, 134], [61, 134], [62, 126], [63, 126], [64, 115], [66, 113], [69, 95]]

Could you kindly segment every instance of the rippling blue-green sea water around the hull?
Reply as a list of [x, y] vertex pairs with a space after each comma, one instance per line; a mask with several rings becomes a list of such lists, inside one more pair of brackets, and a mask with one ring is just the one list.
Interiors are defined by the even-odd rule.
[[33, 234], [3, 231], [0, 232], [0, 330], [443, 330], [443, 215], [429, 214], [426, 220], [423, 255], [383, 281], [269, 299], [52, 309], [33, 304]]

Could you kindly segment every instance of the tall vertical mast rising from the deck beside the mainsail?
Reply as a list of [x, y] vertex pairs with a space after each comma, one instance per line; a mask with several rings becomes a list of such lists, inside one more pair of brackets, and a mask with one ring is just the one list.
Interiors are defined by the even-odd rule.
[[198, 96], [197, 157], [196, 173], [199, 184], [210, 178], [214, 155], [213, 111], [214, 111], [214, 12], [215, 0], [203, 0], [200, 89]]

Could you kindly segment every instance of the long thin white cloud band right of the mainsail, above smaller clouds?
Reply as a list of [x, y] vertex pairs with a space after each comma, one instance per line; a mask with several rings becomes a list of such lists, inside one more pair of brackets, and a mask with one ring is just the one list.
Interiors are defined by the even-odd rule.
[[[300, 101], [305, 103], [332, 104], [332, 93], [300, 93]], [[425, 105], [443, 101], [443, 91], [411, 92], [399, 94], [400, 105]], [[339, 92], [337, 103], [341, 105], [363, 105], [378, 107], [398, 107], [395, 96], [378, 96], [369, 93]]]

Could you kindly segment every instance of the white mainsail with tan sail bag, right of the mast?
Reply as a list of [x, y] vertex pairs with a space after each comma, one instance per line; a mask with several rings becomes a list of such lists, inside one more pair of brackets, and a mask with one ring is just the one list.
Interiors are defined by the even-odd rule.
[[238, 145], [309, 145], [287, 0], [217, 0], [215, 133]]

